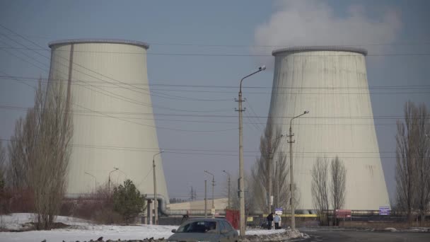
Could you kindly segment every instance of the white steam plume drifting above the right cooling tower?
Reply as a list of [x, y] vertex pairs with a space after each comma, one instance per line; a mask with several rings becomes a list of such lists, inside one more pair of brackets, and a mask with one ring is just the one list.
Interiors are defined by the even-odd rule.
[[[339, 16], [323, 1], [279, 1], [267, 23], [255, 29], [253, 54], [271, 54], [272, 50], [295, 45], [354, 45], [369, 53], [383, 53], [395, 42], [402, 28], [400, 15], [385, 8], [376, 18], [362, 6], [349, 6]], [[267, 46], [267, 47], [261, 47]], [[262, 57], [259, 64], [272, 66], [273, 57]]]

